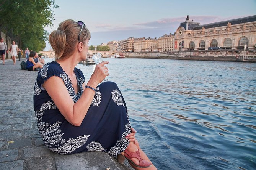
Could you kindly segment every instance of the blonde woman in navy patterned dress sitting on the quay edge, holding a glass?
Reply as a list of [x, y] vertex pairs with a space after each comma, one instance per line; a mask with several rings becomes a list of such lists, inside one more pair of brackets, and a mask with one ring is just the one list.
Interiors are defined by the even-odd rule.
[[49, 35], [55, 60], [38, 72], [34, 87], [34, 111], [44, 144], [58, 154], [103, 151], [117, 155], [119, 163], [128, 159], [135, 169], [155, 170], [135, 138], [116, 83], [101, 83], [109, 75], [109, 62], [96, 65], [87, 83], [75, 67], [86, 60], [90, 37], [82, 21], [70, 19]]

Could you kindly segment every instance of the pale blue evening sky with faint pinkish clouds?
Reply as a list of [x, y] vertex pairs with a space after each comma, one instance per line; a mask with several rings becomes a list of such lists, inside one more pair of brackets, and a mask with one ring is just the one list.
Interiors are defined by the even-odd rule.
[[[181, 22], [200, 24], [256, 15], [256, 0], [55, 0], [51, 33], [66, 19], [83, 21], [91, 32], [89, 45], [129, 37], [159, 38], [174, 34]], [[46, 42], [45, 50], [50, 50]]]

